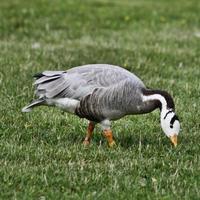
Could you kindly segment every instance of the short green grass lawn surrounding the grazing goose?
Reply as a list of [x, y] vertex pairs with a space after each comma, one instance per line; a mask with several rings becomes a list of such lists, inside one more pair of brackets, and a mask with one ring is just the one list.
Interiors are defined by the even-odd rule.
[[[1, 0], [0, 199], [200, 199], [198, 0]], [[40, 107], [32, 75], [110, 63], [167, 90], [182, 130], [175, 149], [159, 111], [113, 123], [82, 146], [87, 121]]]

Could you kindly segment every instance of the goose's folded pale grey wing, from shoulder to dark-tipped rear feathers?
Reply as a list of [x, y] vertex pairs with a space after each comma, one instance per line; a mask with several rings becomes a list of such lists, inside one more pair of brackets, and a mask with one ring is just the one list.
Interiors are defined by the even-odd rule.
[[143, 85], [138, 77], [127, 70], [103, 64], [85, 65], [67, 71], [45, 71], [35, 77], [35, 93], [39, 98], [68, 97], [80, 100], [95, 88], [110, 87], [128, 78]]

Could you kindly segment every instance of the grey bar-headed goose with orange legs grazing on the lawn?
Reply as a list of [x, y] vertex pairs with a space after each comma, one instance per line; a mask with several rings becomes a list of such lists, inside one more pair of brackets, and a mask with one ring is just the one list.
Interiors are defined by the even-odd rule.
[[160, 109], [161, 127], [177, 145], [180, 123], [172, 97], [165, 91], [147, 89], [133, 73], [118, 66], [91, 64], [67, 71], [44, 71], [35, 75], [38, 97], [22, 109], [48, 105], [89, 120], [84, 144], [89, 144], [95, 124], [100, 123], [109, 146], [115, 144], [111, 121], [125, 115]]

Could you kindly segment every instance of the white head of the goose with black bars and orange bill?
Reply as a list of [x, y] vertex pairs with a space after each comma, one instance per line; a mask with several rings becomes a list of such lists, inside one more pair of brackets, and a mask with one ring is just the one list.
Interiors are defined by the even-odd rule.
[[163, 132], [169, 137], [174, 144], [177, 145], [177, 136], [180, 131], [180, 122], [172, 109], [166, 109], [161, 113], [161, 127]]

